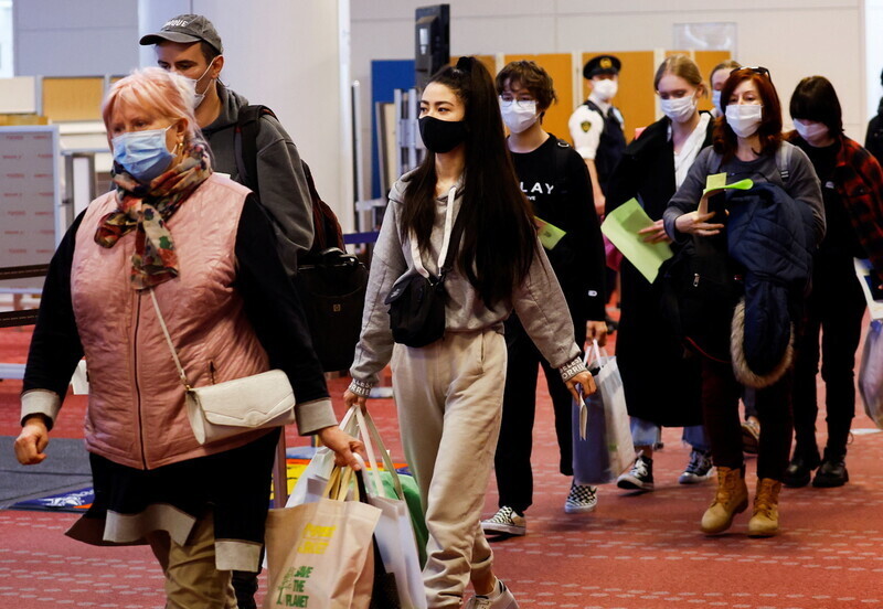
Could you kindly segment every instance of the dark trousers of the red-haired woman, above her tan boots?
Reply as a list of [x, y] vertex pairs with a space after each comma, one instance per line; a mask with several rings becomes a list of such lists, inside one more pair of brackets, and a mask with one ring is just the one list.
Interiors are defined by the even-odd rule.
[[[785, 477], [794, 428], [792, 384], [791, 368], [774, 385], [756, 391], [755, 404], [760, 420], [758, 478], [780, 481]], [[702, 359], [702, 416], [711, 441], [712, 461], [716, 467], [735, 469], [744, 463], [738, 416], [742, 391], [742, 385], [733, 375], [732, 364]]]

